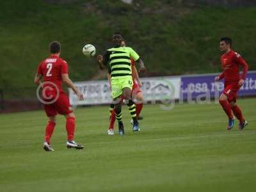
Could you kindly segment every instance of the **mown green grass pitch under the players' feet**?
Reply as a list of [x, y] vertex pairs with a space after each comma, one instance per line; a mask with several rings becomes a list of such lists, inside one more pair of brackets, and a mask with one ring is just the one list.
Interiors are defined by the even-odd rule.
[[65, 146], [58, 116], [55, 152], [42, 148], [44, 111], [0, 115], [0, 191], [254, 191], [256, 99], [240, 99], [246, 130], [227, 132], [218, 104], [177, 104], [172, 111], [145, 105], [141, 132], [107, 135], [108, 106], [77, 108], [76, 141]]

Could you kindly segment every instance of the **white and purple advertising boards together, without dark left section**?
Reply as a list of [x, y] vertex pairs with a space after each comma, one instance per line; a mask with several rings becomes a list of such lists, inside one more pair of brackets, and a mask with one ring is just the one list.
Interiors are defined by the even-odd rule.
[[[145, 102], [159, 100], [196, 100], [198, 98], [213, 99], [223, 91], [222, 81], [214, 82], [218, 74], [192, 76], [166, 76], [141, 78]], [[111, 102], [111, 89], [108, 81], [77, 82], [76, 86], [86, 95], [83, 101], [77, 100], [76, 95], [69, 90], [72, 105], [108, 104]], [[256, 72], [248, 72], [239, 96], [256, 96]]]

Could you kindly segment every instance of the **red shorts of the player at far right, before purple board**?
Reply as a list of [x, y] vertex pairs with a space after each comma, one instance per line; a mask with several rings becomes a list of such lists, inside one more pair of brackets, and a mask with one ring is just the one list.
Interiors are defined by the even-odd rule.
[[237, 92], [241, 87], [238, 85], [238, 81], [225, 82], [224, 87], [225, 89], [223, 90], [223, 94], [228, 97], [228, 102], [236, 102]]

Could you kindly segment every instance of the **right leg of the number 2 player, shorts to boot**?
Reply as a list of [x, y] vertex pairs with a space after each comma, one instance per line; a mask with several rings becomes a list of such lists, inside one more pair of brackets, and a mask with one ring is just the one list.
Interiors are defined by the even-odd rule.
[[76, 116], [70, 106], [68, 96], [66, 93], [61, 92], [58, 100], [54, 103], [54, 106], [58, 113], [64, 115], [66, 118], [66, 131], [67, 131], [67, 147], [82, 149], [83, 145], [74, 141], [74, 134], [76, 129]]

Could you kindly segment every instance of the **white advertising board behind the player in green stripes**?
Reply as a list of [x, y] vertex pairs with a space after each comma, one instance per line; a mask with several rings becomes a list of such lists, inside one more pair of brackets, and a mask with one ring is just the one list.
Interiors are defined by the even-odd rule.
[[[144, 101], [179, 99], [180, 77], [147, 77], [141, 78]], [[77, 88], [83, 92], [85, 99], [79, 101], [76, 95], [69, 91], [69, 100], [74, 105], [109, 104], [112, 101], [108, 81], [76, 82]]]

